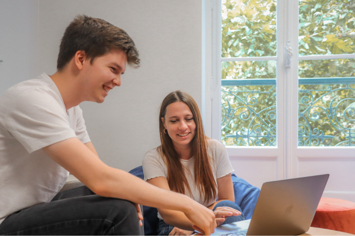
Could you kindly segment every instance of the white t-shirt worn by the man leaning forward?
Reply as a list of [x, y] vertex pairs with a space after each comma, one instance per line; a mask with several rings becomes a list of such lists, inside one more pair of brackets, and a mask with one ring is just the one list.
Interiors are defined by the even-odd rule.
[[79, 106], [66, 110], [45, 73], [8, 89], [0, 97], [0, 223], [10, 214], [50, 202], [68, 171], [43, 147], [77, 137], [90, 142]]

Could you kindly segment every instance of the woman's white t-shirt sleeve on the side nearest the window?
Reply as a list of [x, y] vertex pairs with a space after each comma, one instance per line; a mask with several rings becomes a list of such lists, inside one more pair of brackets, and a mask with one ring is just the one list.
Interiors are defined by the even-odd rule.
[[227, 153], [226, 147], [219, 141], [213, 140], [210, 142], [210, 145], [214, 146], [214, 155], [216, 162], [216, 178], [221, 178], [226, 176], [229, 173], [232, 173], [233, 167], [231, 165], [231, 161], [229, 160], [229, 156]]

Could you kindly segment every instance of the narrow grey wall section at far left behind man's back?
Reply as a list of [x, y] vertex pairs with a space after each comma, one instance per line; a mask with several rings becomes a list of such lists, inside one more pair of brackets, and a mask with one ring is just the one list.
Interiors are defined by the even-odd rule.
[[0, 0], [0, 95], [38, 74], [38, 0]]

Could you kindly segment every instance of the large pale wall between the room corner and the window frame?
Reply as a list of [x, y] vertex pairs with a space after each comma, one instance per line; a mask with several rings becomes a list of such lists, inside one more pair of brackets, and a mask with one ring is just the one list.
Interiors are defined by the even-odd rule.
[[103, 18], [124, 29], [142, 60], [102, 104], [84, 102], [86, 126], [100, 158], [129, 171], [160, 144], [158, 114], [174, 90], [201, 106], [201, 0], [39, 0], [39, 73], [53, 74], [62, 34], [74, 16]]

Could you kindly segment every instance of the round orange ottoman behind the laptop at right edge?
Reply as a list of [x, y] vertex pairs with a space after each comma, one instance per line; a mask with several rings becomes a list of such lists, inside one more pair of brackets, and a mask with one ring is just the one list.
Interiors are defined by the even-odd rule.
[[311, 226], [355, 234], [355, 203], [321, 198]]

